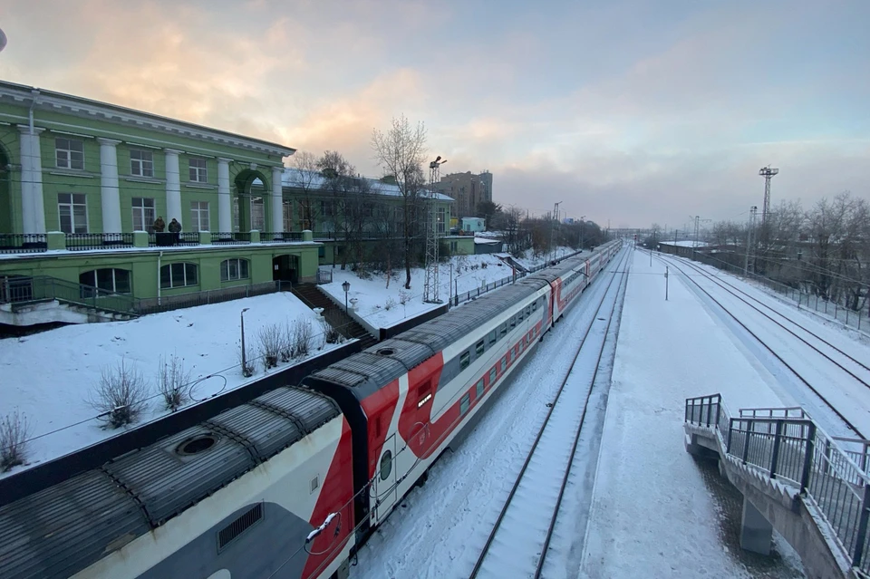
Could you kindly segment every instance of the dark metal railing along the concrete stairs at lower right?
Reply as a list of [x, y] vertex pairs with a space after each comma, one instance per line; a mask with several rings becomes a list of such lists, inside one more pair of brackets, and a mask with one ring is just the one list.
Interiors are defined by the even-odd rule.
[[[687, 399], [685, 420], [716, 429], [725, 454], [795, 485], [817, 507], [852, 565], [870, 573], [870, 557], [864, 556], [870, 548], [870, 477], [837, 439], [797, 410], [742, 409], [739, 418], [731, 418], [714, 394]], [[864, 455], [870, 445], [841, 440], [860, 443]]]

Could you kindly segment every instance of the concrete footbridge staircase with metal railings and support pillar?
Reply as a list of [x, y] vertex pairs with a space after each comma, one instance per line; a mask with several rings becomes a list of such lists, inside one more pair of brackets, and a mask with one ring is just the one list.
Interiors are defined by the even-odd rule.
[[776, 528], [807, 576], [870, 577], [870, 442], [830, 437], [799, 408], [731, 416], [719, 394], [686, 400], [684, 426], [686, 450], [743, 494], [740, 546], [769, 555]]

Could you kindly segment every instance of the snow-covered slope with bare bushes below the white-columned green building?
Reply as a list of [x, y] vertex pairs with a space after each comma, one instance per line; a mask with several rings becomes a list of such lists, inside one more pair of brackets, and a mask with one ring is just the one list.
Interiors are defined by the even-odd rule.
[[[250, 379], [242, 376], [239, 367], [239, 313], [244, 308], [248, 308], [245, 335], [249, 359], [259, 356], [256, 336], [261, 328], [298, 318], [312, 323], [314, 339], [309, 356], [333, 347], [324, 347], [318, 316], [289, 293], [151, 314], [129, 322], [70, 325], [0, 340], [0, 416], [18, 409], [30, 422], [34, 439], [28, 444], [26, 466], [122, 431], [103, 429], [103, 423], [94, 419], [97, 412], [87, 401], [92, 387], [100, 381], [102, 369], [121, 360], [142, 373], [155, 395], [140, 423], [166, 413], [156, 395], [160, 356], [175, 354], [182, 358], [194, 380], [212, 376], [195, 387], [193, 393], [199, 400], [262, 376], [264, 369], [259, 360], [256, 374]], [[288, 365], [279, 363], [277, 370]]]

